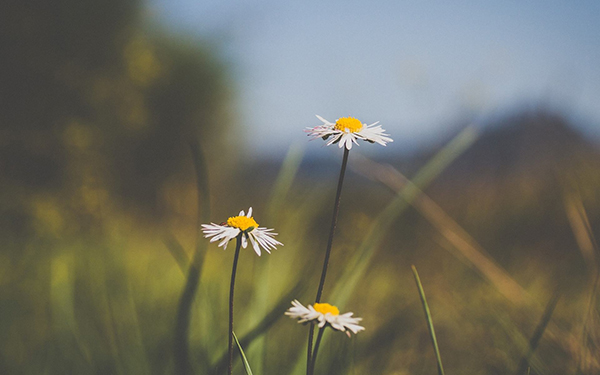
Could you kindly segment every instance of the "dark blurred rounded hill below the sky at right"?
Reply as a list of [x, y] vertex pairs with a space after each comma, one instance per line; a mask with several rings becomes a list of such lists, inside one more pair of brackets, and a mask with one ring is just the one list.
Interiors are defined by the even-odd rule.
[[[435, 152], [419, 159], [429, 159]], [[594, 167], [600, 171], [598, 145], [588, 141], [563, 116], [525, 112], [488, 126], [434, 185], [438, 192], [450, 186], [469, 192], [485, 186], [504, 195], [511, 187], [522, 185], [519, 193], [534, 193], [544, 188], [542, 185], [558, 187], [575, 178], [582, 168]]]

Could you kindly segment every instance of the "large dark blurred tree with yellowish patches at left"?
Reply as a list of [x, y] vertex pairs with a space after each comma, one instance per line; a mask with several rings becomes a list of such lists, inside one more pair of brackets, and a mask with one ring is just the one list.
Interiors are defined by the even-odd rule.
[[108, 202], [158, 218], [162, 186], [189, 163], [186, 139], [222, 144], [222, 64], [208, 48], [149, 32], [140, 5], [0, 5], [5, 210], [22, 215], [25, 204], [34, 216], [36, 210], [48, 216], [52, 196], [54, 225], [65, 211], [84, 225], [82, 216], [93, 221]]

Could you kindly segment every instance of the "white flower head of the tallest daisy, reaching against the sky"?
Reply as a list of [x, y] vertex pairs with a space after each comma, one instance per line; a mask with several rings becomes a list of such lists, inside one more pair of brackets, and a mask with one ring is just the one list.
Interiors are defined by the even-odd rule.
[[357, 139], [379, 143], [382, 146], [385, 146], [388, 142], [393, 142], [389, 134], [385, 134], [385, 130], [381, 125], [377, 125], [379, 121], [367, 125], [354, 117], [342, 117], [337, 119], [335, 123], [329, 122], [319, 115], [317, 115], [317, 118], [323, 121], [323, 125], [306, 128], [304, 131], [312, 139], [323, 138], [323, 140], [327, 140], [327, 138], [331, 137], [327, 142], [327, 146], [339, 142], [340, 148], [346, 147], [350, 150], [353, 142], [358, 145]]

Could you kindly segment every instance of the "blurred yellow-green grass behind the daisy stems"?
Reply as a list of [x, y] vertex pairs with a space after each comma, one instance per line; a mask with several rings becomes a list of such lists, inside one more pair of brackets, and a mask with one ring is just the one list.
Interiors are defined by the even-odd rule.
[[[475, 140], [473, 133], [458, 139], [462, 141], [450, 143], [445, 153], [431, 159], [436, 168], [429, 164], [393, 194], [377, 190], [373, 181], [349, 176], [324, 300], [363, 317], [367, 329], [352, 339], [327, 332], [317, 365], [321, 373], [435, 372], [411, 263], [418, 264], [427, 280], [436, 332], [452, 337], [439, 342], [447, 373], [512, 373], [531, 347], [535, 351], [527, 362], [532, 373], [575, 373], [579, 368], [582, 374], [593, 374], [598, 369], [597, 277], [590, 267], [597, 253], [596, 201], [584, 201], [578, 194], [559, 196], [564, 199], [557, 201], [576, 257], [557, 262], [538, 255], [533, 251], [537, 245], [523, 240], [506, 248], [507, 254], [514, 254], [514, 262], [507, 262], [501, 254], [483, 250], [483, 244], [489, 246], [486, 231], [470, 225], [466, 216], [447, 208], [447, 201], [426, 191]], [[223, 176], [211, 182], [214, 205], [226, 202], [246, 209], [251, 201], [259, 223], [275, 228], [285, 244], [260, 258], [251, 251], [240, 256], [236, 330], [254, 373], [303, 371], [302, 365], [294, 370], [293, 364], [304, 362], [307, 329], [284, 317], [283, 311], [292, 299], [309, 301], [314, 293], [311, 288], [319, 268], [315, 260], [324, 248], [326, 234], [321, 228], [327, 226], [333, 191], [326, 178], [310, 183], [299, 178], [301, 160], [302, 152], [291, 149], [274, 173], [272, 181], [278, 181], [274, 186], [271, 179], [255, 187]], [[352, 159], [353, 165], [362, 173], [360, 159]], [[379, 181], [398, 182], [393, 169], [373, 165], [367, 169], [385, 177]], [[174, 208], [158, 224], [140, 220], [119, 206], [106, 206], [93, 233], [73, 235], [68, 205], [46, 196], [35, 202], [32, 232], [5, 233], [5, 251], [0, 253], [0, 372], [175, 373], [173, 326], [197, 243], [198, 212], [190, 204], [196, 185], [188, 180], [173, 186], [168, 201]], [[247, 195], [240, 193], [241, 186]], [[252, 189], [266, 194], [255, 195]], [[370, 189], [378, 193], [364, 193]], [[582, 189], [589, 192], [589, 187]], [[268, 198], [254, 201], [257, 196]], [[224, 209], [215, 211], [221, 215]], [[217, 215], [209, 220], [226, 219]], [[520, 286], [531, 303], [522, 305], [518, 298], [510, 298], [513, 292], [506, 292], [485, 272], [485, 262], [469, 260], [473, 258], [464, 251], [467, 248], [485, 255], [502, 277]], [[218, 373], [221, 366], [227, 344], [231, 256], [231, 251], [207, 246], [191, 305], [193, 373]], [[577, 257], [586, 261], [573, 263]], [[544, 334], [536, 336], [532, 327], [540, 322], [541, 302], [551, 300], [559, 280], [563, 302], [542, 319]], [[535, 345], [532, 337], [537, 337]], [[239, 358], [234, 371], [244, 371]]]

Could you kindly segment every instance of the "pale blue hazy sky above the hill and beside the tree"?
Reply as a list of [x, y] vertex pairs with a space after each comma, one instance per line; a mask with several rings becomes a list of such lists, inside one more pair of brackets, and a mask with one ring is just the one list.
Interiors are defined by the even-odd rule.
[[381, 121], [390, 152], [523, 103], [600, 134], [600, 1], [150, 0], [148, 13], [222, 45], [256, 155], [304, 141], [315, 114]]

